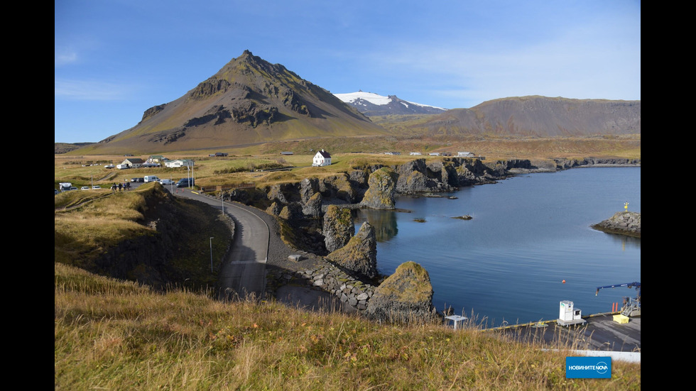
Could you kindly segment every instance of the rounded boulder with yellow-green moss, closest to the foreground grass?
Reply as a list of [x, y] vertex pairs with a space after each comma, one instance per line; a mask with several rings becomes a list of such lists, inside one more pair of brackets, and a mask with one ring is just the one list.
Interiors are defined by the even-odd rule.
[[399, 265], [375, 288], [365, 314], [373, 320], [400, 323], [437, 319], [428, 271], [413, 261]]

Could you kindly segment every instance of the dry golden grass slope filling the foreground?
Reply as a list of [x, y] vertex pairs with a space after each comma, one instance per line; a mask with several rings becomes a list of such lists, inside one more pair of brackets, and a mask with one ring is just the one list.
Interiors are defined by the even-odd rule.
[[376, 324], [277, 302], [153, 292], [54, 265], [55, 390], [640, 390], [641, 365], [567, 379], [565, 348], [476, 324]]

